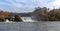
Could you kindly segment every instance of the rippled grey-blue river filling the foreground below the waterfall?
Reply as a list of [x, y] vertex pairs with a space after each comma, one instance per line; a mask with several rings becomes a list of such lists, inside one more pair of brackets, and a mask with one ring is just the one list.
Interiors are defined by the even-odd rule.
[[0, 22], [0, 31], [60, 31], [60, 22]]

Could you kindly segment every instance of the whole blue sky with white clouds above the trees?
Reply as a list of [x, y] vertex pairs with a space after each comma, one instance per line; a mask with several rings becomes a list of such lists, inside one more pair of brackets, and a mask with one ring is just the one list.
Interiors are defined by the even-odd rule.
[[59, 8], [60, 0], [0, 0], [0, 10], [8, 12], [32, 12], [38, 6]]

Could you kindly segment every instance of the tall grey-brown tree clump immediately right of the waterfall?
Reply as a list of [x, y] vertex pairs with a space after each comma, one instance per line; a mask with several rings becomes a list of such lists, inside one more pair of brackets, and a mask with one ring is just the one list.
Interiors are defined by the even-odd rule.
[[45, 20], [45, 14], [47, 13], [47, 8], [46, 7], [43, 7], [43, 8], [36, 8], [35, 11], [34, 11], [34, 16], [35, 16], [35, 19], [37, 21], [43, 21]]

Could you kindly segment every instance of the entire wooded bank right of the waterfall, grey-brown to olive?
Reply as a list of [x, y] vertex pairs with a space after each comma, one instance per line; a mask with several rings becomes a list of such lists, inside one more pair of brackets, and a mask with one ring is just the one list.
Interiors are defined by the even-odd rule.
[[60, 8], [50, 10], [47, 7], [38, 7], [33, 12], [33, 17], [37, 21], [60, 21]]

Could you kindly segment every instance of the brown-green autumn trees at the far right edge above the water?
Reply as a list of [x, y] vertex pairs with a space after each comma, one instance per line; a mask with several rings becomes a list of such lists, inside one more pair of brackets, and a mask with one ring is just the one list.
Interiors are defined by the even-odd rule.
[[60, 10], [55, 9], [47, 13], [48, 21], [60, 21]]

